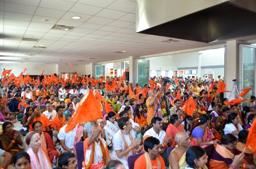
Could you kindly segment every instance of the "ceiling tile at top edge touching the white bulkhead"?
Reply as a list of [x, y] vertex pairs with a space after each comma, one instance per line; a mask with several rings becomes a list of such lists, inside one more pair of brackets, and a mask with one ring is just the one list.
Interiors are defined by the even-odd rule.
[[135, 10], [135, 2], [128, 0], [118, 0], [110, 4], [107, 8], [118, 11], [132, 12]]

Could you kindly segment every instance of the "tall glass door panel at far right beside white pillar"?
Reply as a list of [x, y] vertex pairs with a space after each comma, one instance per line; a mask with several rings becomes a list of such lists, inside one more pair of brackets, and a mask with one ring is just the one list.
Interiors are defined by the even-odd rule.
[[[249, 98], [255, 96], [255, 59], [256, 59], [256, 46], [240, 44], [240, 89], [246, 89], [252, 87], [243, 98]], [[241, 92], [239, 92], [241, 93]], [[243, 105], [246, 102], [243, 102]]]

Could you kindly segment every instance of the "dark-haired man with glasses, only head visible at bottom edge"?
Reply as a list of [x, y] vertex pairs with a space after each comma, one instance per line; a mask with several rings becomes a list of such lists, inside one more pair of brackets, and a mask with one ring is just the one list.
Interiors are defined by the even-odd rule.
[[67, 169], [77, 169], [77, 159], [74, 153], [62, 153], [58, 159], [58, 166]]

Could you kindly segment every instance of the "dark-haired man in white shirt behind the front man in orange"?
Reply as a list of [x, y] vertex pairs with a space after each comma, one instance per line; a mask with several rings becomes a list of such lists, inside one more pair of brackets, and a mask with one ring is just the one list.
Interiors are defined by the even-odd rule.
[[[148, 131], [145, 132], [145, 134], [143, 135], [143, 141], [150, 137], [153, 136], [155, 138], [157, 138], [160, 141], [160, 148], [162, 150], [164, 150], [163, 153], [160, 154], [160, 156], [164, 159], [165, 161], [165, 166], [169, 167], [169, 158], [167, 156], [167, 148], [168, 148], [168, 144], [170, 143], [171, 137], [167, 137], [165, 138], [166, 132], [164, 130], [162, 130], [162, 119], [159, 117], [154, 117], [151, 120], [151, 125], [153, 126], [151, 129], [149, 129]], [[165, 140], [164, 140], [165, 138]]]

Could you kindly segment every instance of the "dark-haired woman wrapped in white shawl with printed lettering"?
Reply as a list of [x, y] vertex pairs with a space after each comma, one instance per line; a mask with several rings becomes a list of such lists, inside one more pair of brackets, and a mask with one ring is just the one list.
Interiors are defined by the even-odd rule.
[[112, 143], [114, 135], [119, 130], [117, 121], [116, 121], [116, 113], [110, 111], [106, 117], [107, 125], [104, 127], [105, 135], [106, 135], [106, 142], [108, 146]]

